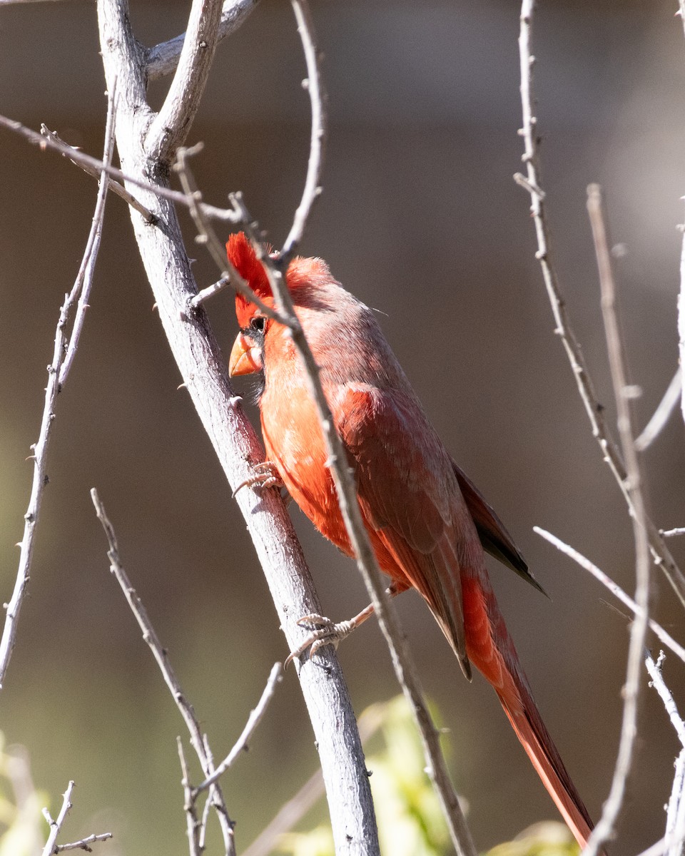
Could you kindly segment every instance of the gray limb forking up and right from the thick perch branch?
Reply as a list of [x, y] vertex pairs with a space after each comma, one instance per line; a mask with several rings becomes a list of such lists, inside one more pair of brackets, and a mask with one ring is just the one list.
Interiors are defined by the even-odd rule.
[[146, 152], [155, 161], [170, 161], [188, 135], [217, 50], [221, 12], [221, 0], [193, 0], [174, 80], [146, 134]]

